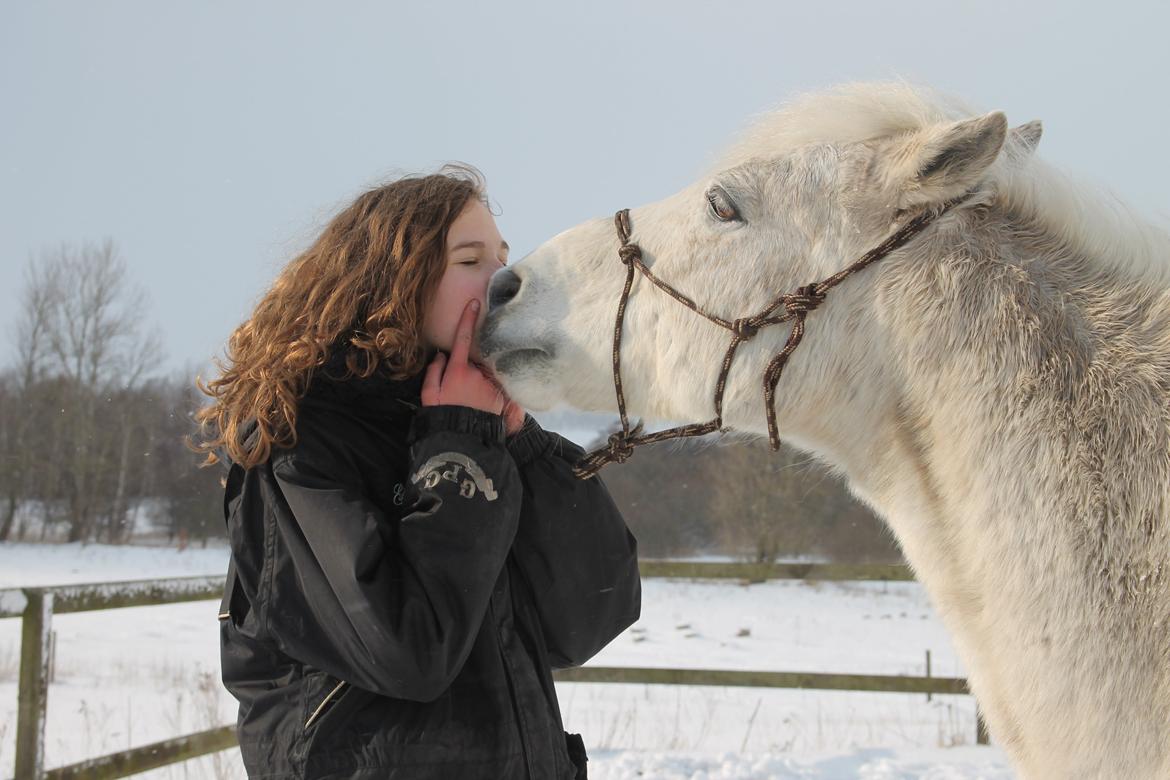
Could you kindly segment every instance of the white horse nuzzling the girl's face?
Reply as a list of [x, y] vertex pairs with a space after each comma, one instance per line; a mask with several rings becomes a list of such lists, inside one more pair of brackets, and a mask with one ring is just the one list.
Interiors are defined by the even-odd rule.
[[[734, 319], [971, 193], [808, 315], [779, 429], [893, 529], [1023, 776], [1170, 778], [1170, 236], [1046, 168], [1039, 138], [907, 85], [840, 88], [632, 209], [632, 240]], [[614, 409], [617, 249], [612, 220], [585, 222], [493, 281], [481, 350], [522, 405]], [[787, 331], [741, 347], [729, 428], [765, 432]], [[638, 278], [631, 413], [711, 419], [728, 336]]]

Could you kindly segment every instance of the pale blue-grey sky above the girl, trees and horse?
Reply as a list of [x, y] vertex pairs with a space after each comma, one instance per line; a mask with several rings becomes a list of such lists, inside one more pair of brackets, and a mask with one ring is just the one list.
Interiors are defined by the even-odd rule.
[[1168, 29], [1152, 1], [0, 0], [0, 364], [44, 248], [113, 239], [161, 368], [194, 368], [395, 173], [480, 167], [519, 258], [842, 81], [1042, 119], [1042, 157], [1165, 225]]

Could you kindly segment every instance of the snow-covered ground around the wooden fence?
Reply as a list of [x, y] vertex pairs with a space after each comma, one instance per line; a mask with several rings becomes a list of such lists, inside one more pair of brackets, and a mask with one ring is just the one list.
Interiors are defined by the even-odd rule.
[[[222, 547], [0, 544], [0, 588], [220, 574]], [[49, 766], [234, 720], [219, 684], [216, 602], [61, 615]], [[962, 676], [915, 584], [647, 580], [644, 617], [592, 664]], [[0, 776], [11, 776], [20, 622], [0, 620]], [[965, 696], [559, 684], [597, 779], [1006, 779], [975, 746]], [[242, 778], [230, 753], [144, 778]]]

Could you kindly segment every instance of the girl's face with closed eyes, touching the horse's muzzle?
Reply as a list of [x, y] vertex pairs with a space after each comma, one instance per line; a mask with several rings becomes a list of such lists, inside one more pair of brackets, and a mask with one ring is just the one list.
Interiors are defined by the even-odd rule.
[[[422, 317], [422, 340], [428, 350], [450, 352], [455, 326], [472, 299], [480, 302], [476, 332], [488, 313], [488, 282], [508, 263], [508, 242], [500, 236], [496, 221], [479, 200], [469, 202], [447, 232], [447, 270], [435, 297]], [[472, 357], [479, 359], [477, 340]]]

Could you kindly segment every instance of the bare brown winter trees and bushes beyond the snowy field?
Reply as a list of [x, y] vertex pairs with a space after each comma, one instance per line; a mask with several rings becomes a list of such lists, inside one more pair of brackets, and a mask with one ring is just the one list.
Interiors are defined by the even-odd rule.
[[[191, 373], [160, 372], [144, 310], [112, 242], [29, 262], [0, 371], [0, 541], [223, 536], [222, 471], [185, 444], [206, 399]], [[900, 560], [841, 482], [787, 448], [663, 442], [603, 478], [646, 557]]]

